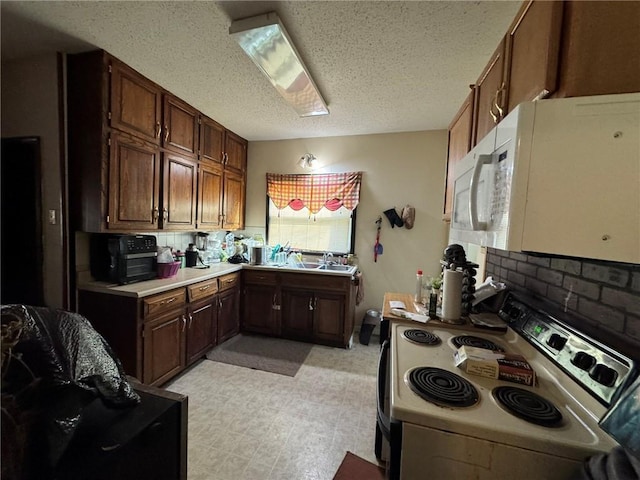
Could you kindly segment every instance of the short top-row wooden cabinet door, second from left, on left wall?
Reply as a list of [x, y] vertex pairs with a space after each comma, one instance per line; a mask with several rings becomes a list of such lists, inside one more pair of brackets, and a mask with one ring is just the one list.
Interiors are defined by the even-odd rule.
[[162, 146], [180, 155], [198, 153], [198, 111], [172, 96], [164, 95]]

